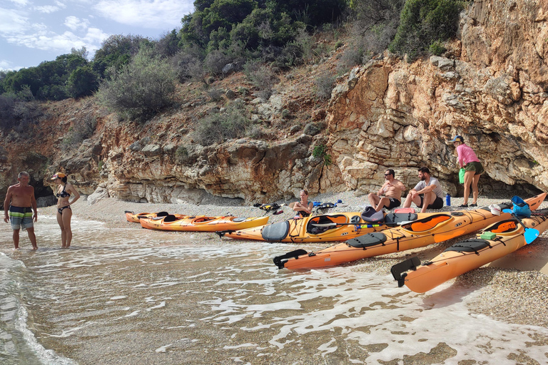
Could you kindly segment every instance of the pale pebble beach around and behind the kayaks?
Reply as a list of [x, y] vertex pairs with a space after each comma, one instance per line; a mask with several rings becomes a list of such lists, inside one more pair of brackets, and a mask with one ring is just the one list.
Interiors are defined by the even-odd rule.
[[[478, 199], [478, 205], [486, 206], [493, 203], [509, 201], [514, 193], [509, 192], [506, 199], [499, 197], [483, 197]], [[519, 195], [519, 194], [518, 194]], [[494, 195], [492, 195], [494, 196]], [[522, 193], [519, 195], [527, 198], [532, 194]], [[336, 202], [342, 200], [345, 206], [336, 207], [328, 212], [344, 211], [344, 212], [360, 212], [367, 202], [367, 195], [356, 196], [353, 192], [340, 192], [333, 194], [322, 194], [311, 197], [311, 201], [321, 202]], [[448, 212], [459, 210], [458, 205], [462, 204], [462, 197], [452, 197], [452, 205], [443, 207], [439, 212]], [[469, 200], [470, 202], [470, 200]], [[278, 202], [281, 204], [281, 202]], [[413, 205], [414, 206], [414, 205]], [[542, 208], [548, 208], [548, 201], [544, 201]], [[474, 209], [474, 208], [468, 208]], [[169, 213], [182, 213], [187, 215], [235, 215], [240, 217], [260, 217], [269, 215], [269, 223], [280, 222], [291, 219], [294, 214], [287, 206], [283, 206], [284, 211], [280, 215], [272, 215], [265, 213], [263, 210], [253, 207], [253, 205], [195, 205], [191, 203], [185, 204], [169, 204], [169, 203], [141, 203], [141, 202], [125, 202], [115, 198], [106, 198], [99, 200], [93, 205], [88, 205], [87, 197], [82, 196], [75, 205], [73, 205], [73, 222], [75, 220], [96, 220], [103, 222], [109, 228], [139, 228], [136, 223], [126, 221], [125, 211], [139, 212], [160, 212], [166, 211]], [[39, 208], [40, 215], [56, 215], [56, 207], [41, 207]], [[73, 224], [74, 237], [78, 237], [78, 225]], [[181, 232], [184, 233], [184, 232]], [[194, 235], [193, 240], [200, 243], [210, 243], [211, 233], [204, 232], [200, 235]], [[474, 235], [463, 236], [454, 240], [440, 242], [435, 245], [422, 247], [414, 250], [397, 252], [381, 257], [373, 257], [371, 259], [363, 259], [357, 262], [352, 262], [350, 269], [352, 271], [367, 271], [375, 272], [380, 275], [390, 275], [390, 267], [397, 262], [407, 259], [411, 255], [416, 255], [421, 262], [426, 261], [445, 250], [450, 245], [461, 240], [474, 237]], [[223, 239], [228, 242], [229, 239]], [[288, 244], [287, 250], [295, 250], [296, 246], [301, 248], [319, 250], [323, 247], [328, 247], [331, 244]], [[280, 252], [282, 254], [283, 252]], [[511, 322], [516, 324], [536, 325], [548, 327], [548, 231], [542, 233], [531, 245], [522, 247], [522, 249], [513, 252], [502, 259], [498, 259], [491, 264], [484, 265], [480, 269], [472, 270], [466, 274], [452, 279], [450, 283], [460, 287], [473, 288], [480, 290], [481, 295], [477, 295], [470, 305], [469, 309], [475, 314], [484, 314], [497, 320]], [[397, 285], [395, 281], [387, 283], [389, 285]], [[405, 288], [402, 288], [405, 290]], [[426, 297], [428, 293], [422, 294]]]

